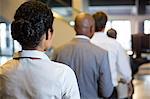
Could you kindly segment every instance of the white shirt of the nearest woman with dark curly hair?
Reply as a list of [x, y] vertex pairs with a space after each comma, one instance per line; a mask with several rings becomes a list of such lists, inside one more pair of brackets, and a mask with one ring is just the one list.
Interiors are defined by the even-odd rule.
[[0, 99], [80, 99], [74, 72], [44, 52], [23, 50], [0, 67]]

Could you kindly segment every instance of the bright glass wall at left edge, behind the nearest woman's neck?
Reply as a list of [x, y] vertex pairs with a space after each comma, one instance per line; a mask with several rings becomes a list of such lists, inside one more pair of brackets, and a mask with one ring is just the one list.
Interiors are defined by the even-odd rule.
[[14, 52], [21, 50], [17, 41], [11, 37], [9, 23], [0, 23], [0, 65], [12, 58]]

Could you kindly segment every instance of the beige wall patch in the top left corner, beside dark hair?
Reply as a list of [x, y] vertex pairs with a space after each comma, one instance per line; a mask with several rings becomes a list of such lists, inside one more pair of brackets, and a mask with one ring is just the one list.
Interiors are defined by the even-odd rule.
[[16, 9], [27, 0], [0, 0], [1, 15], [8, 21], [13, 20]]

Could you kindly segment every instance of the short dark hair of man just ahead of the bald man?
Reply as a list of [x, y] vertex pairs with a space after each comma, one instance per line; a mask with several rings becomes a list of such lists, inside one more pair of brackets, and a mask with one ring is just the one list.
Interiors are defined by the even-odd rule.
[[101, 31], [103, 28], [105, 28], [108, 18], [104, 12], [96, 12], [95, 14], [93, 14], [93, 18], [95, 20], [96, 32]]

